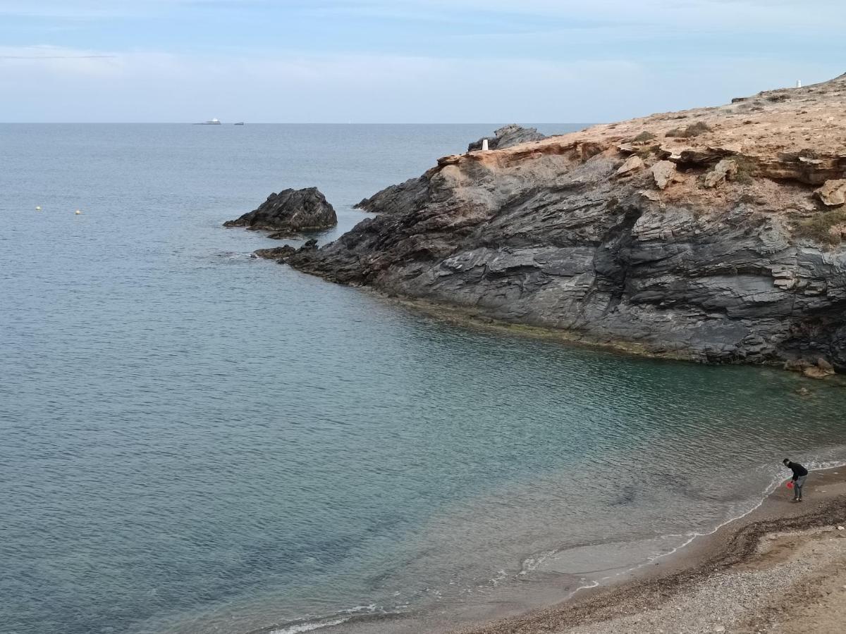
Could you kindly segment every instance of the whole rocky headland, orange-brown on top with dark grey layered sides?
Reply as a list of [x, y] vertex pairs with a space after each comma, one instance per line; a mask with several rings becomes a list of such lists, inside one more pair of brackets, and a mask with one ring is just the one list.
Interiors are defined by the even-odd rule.
[[647, 353], [846, 371], [844, 112], [846, 75], [446, 156], [287, 261]]

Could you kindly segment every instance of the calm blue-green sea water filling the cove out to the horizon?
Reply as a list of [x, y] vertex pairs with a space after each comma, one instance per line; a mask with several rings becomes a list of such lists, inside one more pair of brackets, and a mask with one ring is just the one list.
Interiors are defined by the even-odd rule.
[[842, 388], [450, 325], [221, 227], [316, 185], [332, 239], [492, 128], [0, 126], [0, 629], [560, 596], [748, 511], [783, 456], [846, 456]]

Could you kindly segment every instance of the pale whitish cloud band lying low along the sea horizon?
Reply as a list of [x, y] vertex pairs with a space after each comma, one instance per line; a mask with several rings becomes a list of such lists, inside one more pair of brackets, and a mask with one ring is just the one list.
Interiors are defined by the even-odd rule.
[[[814, 68], [814, 72], [821, 72]], [[834, 73], [832, 73], [833, 75]], [[2, 121], [598, 122], [728, 101], [801, 63], [272, 54], [185, 56], [0, 48]], [[715, 97], [716, 96], [716, 97]]]

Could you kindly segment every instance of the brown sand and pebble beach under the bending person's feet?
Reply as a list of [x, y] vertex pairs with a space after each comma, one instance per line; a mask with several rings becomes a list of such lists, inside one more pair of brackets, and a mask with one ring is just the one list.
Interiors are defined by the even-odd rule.
[[611, 587], [463, 634], [794, 632], [846, 628], [846, 467], [782, 485], [749, 515]]

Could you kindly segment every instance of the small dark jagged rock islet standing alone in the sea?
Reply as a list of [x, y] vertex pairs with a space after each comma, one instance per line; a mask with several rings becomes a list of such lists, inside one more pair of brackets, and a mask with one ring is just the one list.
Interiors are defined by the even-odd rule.
[[270, 238], [289, 238], [301, 232], [320, 231], [338, 224], [335, 210], [316, 187], [285, 189], [270, 194], [261, 206], [224, 227], [272, 231]]

